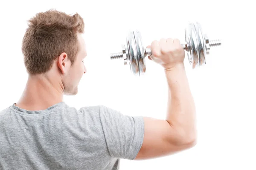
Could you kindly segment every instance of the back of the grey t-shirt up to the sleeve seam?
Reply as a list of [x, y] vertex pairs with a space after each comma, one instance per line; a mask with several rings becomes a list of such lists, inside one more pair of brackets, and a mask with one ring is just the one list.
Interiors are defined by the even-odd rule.
[[[44, 111], [0, 112], [0, 169], [108, 169], [100, 106], [57, 103]], [[114, 161], [118, 161], [117, 159]], [[114, 163], [114, 162], [112, 162]]]

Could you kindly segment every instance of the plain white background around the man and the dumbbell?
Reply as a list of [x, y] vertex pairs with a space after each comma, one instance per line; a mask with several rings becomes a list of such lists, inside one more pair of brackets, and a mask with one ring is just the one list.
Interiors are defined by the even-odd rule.
[[198, 144], [158, 159], [121, 160], [121, 170], [256, 169], [256, 41], [253, 1], [224, 0], [44, 0], [0, 2], [0, 110], [17, 102], [26, 85], [21, 42], [26, 20], [55, 8], [78, 12], [85, 21], [87, 74], [79, 94], [65, 102], [80, 108], [106, 105], [123, 114], [165, 119], [167, 85], [160, 65], [146, 61], [147, 72], [134, 77], [119, 52], [126, 32], [140, 29], [144, 46], [160, 38], [184, 42], [188, 21], [201, 23], [209, 38], [222, 40], [211, 48], [207, 65], [186, 73], [197, 108]]

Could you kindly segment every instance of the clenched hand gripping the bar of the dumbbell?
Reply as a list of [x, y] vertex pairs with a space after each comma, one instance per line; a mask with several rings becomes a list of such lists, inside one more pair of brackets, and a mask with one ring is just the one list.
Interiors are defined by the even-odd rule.
[[152, 55], [148, 56], [148, 59], [162, 65], [165, 70], [184, 64], [185, 51], [178, 39], [155, 40], [147, 48], [151, 48], [152, 52]]

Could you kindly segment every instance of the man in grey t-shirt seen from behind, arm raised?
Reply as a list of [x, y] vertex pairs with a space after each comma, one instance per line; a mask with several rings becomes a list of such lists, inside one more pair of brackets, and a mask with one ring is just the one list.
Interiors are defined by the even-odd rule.
[[0, 169], [117, 170], [120, 159], [167, 156], [195, 146], [195, 105], [177, 39], [153, 41], [152, 61], [169, 85], [166, 120], [103, 105], [76, 110], [86, 49], [79, 14], [49, 10], [29, 20], [22, 52], [29, 74], [19, 101], [0, 112]]

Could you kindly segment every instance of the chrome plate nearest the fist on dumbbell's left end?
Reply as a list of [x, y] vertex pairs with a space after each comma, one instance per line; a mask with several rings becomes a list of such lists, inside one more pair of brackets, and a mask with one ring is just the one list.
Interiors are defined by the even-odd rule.
[[145, 51], [143, 47], [141, 33], [138, 29], [134, 30], [134, 38], [136, 44], [137, 51], [137, 59], [139, 64], [139, 75], [142, 75], [146, 71], [146, 63], [145, 63]]

